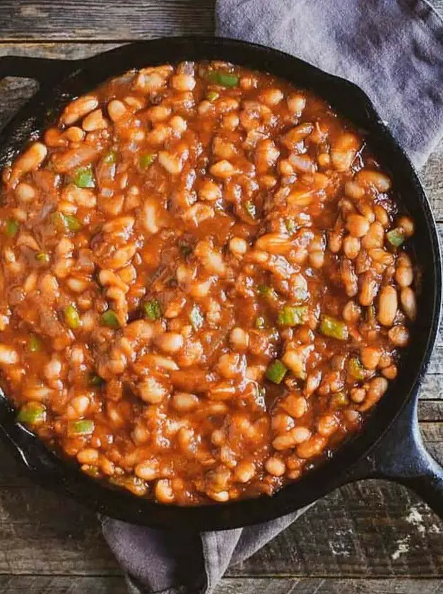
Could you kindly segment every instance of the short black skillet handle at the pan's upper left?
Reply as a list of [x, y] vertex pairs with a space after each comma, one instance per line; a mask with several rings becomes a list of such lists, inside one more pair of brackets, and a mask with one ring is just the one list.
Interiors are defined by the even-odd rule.
[[40, 85], [54, 81], [66, 69], [74, 69], [76, 60], [34, 58], [30, 56], [4, 56], [0, 58], [0, 78], [18, 76], [33, 78]]

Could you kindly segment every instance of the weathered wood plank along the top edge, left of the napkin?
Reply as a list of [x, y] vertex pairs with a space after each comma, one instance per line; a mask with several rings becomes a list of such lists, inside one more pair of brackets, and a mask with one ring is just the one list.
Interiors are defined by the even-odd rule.
[[[62, 4], [62, 6], [61, 6]], [[134, 40], [211, 35], [215, 0], [2, 0], [3, 40]]]

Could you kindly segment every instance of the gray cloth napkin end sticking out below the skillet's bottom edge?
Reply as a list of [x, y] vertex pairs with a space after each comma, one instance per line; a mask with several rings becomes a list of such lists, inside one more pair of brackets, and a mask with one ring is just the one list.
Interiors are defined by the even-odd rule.
[[306, 510], [223, 532], [184, 534], [110, 518], [102, 518], [102, 530], [131, 594], [210, 594], [228, 565], [251, 557]]

